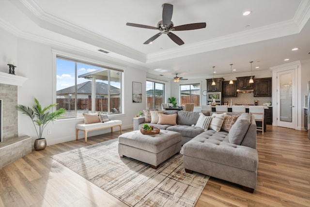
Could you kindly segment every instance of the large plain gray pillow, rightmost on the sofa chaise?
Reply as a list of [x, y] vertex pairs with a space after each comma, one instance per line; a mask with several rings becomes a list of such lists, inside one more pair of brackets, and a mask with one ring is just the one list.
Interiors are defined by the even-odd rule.
[[233, 124], [233, 127], [228, 133], [228, 141], [233, 144], [240, 145], [243, 141], [244, 136], [248, 132], [248, 127], [250, 126], [250, 120], [248, 119], [237, 119]]

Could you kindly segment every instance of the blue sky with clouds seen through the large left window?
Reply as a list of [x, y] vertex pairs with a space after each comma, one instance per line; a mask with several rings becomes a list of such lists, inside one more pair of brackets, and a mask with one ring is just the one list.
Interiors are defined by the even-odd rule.
[[[77, 75], [82, 75], [85, 73], [93, 72], [95, 70], [102, 69], [102, 67], [94, 66], [94, 65], [89, 65], [89, 64], [81, 64], [77, 63]], [[56, 90], [61, 90], [70, 86], [75, 85], [75, 62], [72, 61], [67, 61], [63, 59], [57, 58], [56, 61]], [[77, 82], [83, 83], [89, 81], [84, 78], [78, 78]], [[102, 81], [106, 82], [107, 81]], [[111, 85], [117, 88], [120, 88], [120, 83], [119, 82], [111, 82]]]

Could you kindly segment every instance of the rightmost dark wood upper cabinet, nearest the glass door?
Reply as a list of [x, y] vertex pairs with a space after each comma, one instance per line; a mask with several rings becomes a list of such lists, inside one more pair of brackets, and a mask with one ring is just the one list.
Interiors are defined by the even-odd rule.
[[254, 79], [254, 97], [271, 96], [272, 78]]

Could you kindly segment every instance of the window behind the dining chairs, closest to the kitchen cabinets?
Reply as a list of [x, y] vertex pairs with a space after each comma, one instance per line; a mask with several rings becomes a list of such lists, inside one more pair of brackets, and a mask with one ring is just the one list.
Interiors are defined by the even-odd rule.
[[200, 106], [200, 84], [180, 85], [181, 106], [193, 103]]

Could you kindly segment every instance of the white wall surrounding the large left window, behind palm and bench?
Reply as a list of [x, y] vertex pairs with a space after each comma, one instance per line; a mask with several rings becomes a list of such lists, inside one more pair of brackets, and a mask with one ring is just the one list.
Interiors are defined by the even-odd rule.
[[[17, 40], [17, 41], [16, 41]], [[25, 39], [17, 38], [12, 40], [12, 43], [17, 45], [18, 56], [18, 75], [27, 77], [25, 84], [18, 88], [18, 104], [30, 105], [34, 103], [36, 97], [40, 104], [45, 107], [55, 102], [53, 100], [53, 54], [52, 46], [35, 43]], [[14, 45], [14, 44], [13, 44]], [[61, 50], [62, 48], [56, 48]], [[65, 51], [65, 49], [63, 49]], [[89, 54], [79, 55], [91, 58]], [[93, 60], [105, 63], [105, 60], [93, 57]], [[145, 98], [142, 103], [132, 103], [132, 81], [142, 83], [142, 96], [145, 97], [145, 80], [146, 72], [142, 69], [134, 68], [133, 66], [125, 65], [124, 63], [116, 63], [109, 61], [107, 64], [119, 65], [124, 68], [124, 111], [125, 114], [111, 115], [109, 118], [122, 120], [123, 128], [129, 128], [133, 125], [132, 118], [138, 111], [145, 108]], [[47, 138], [47, 145], [62, 143], [75, 140], [75, 125], [82, 123], [83, 118], [57, 120], [54, 123], [47, 125], [44, 131], [44, 137]], [[51, 134], [47, 135], [47, 130], [51, 130]], [[119, 130], [115, 127], [113, 130]], [[109, 132], [110, 129], [103, 129], [89, 132], [88, 136], [98, 135]], [[118, 133], [118, 132], [116, 132]], [[18, 113], [18, 135], [29, 135], [34, 139], [37, 137], [35, 129], [29, 117]], [[83, 137], [83, 133], [79, 133], [79, 138]]]

